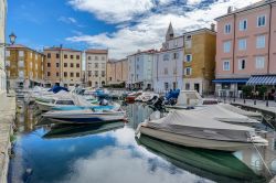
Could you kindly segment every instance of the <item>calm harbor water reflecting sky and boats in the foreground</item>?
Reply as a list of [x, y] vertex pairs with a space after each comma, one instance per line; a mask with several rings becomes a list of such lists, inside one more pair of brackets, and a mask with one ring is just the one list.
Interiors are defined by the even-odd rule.
[[35, 106], [19, 106], [11, 183], [263, 183], [276, 174], [274, 130], [268, 147], [229, 153], [136, 139], [152, 112], [142, 104], [124, 106], [127, 123], [102, 126], [51, 126]]

